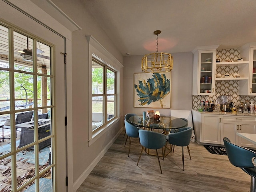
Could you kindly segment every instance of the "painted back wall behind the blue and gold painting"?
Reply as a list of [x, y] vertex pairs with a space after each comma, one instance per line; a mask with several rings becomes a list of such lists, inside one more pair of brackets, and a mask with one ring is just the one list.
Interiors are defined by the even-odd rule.
[[[173, 69], [171, 72], [171, 108], [177, 110], [192, 109], [192, 52], [174, 53]], [[124, 57], [124, 114], [142, 114], [149, 108], [134, 108], [134, 73], [140, 73], [140, 56]], [[156, 111], [156, 110], [155, 110]], [[160, 114], [170, 115], [170, 109], [158, 109]]]

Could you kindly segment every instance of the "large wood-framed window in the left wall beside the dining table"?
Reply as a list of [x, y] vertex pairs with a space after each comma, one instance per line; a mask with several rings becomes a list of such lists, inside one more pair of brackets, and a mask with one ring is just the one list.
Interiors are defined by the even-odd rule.
[[116, 72], [101, 59], [92, 58], [92, 131], [116, 116]]

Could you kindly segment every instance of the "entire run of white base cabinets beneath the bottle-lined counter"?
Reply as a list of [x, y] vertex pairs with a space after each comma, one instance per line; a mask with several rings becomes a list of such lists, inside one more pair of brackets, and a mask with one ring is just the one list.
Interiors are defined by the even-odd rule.
[[256, 134], [256, 116], [239, 116], [214, 114], [214, 112], [198, 112], [192, 110], [196, 142], [208, 144], [224, 144], [227, 137], [238, 146], [255, 147], [252, 142], [236, 135], [239, 133]]

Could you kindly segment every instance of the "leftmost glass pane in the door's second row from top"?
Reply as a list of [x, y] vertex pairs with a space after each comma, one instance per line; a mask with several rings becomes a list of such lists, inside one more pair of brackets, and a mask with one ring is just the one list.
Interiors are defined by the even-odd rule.
[[0, 70], [0, 111], [10, 110], [10, 75], [8, 71]]

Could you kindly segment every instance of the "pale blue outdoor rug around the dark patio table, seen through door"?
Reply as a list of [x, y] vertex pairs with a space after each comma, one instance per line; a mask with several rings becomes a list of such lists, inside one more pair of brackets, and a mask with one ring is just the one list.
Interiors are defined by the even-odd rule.
[[[16, 140], [16, 148], [19, 146], [19, 144], [20, 144], [20, 140]], [[0, 155], [6, 154], [10, 151], [11, 151], [10, 143], [0, 146]], [[49, 160], [49, 152], [50, 152], [50, 146], [45, 147], [39, 151], [39, 165], [46, 164], [46, 162]], [[35, 162], [34, 150], [26, 149], [21, 152], [18, 152], [16, 158], [17, 158], [17, 161], [34, 164]]]

